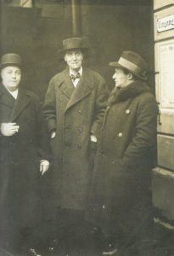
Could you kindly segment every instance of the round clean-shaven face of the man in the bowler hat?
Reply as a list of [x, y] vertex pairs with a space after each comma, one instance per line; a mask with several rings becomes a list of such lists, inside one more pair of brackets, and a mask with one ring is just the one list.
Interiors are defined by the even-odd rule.
[[8, 90], [16, 90], [20, 84], [20, 79], [21, 79], [21, 71], [20, 67], [15, 67], [15, 66], [8, 66], [8, 67], [3, 67], [1, 71], [1, 78], [3, 85], [8, 89]]

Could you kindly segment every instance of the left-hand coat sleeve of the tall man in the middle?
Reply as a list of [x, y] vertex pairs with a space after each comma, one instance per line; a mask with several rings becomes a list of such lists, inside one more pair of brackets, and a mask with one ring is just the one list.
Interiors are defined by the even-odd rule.
[[47, 121], [48, 132], [56, 130], [56, 106], [55, 106], [55, 91], [53, 79], [50, 81], [48, 91], [45, 96], [45, 102], [42, 107], [43, 115]]

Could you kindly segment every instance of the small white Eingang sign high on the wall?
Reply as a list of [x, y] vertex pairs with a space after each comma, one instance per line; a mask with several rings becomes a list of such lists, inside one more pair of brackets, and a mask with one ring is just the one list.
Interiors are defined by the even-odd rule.
[[174, 15], [169, 15], [157, 20], [157, 32], [174, 29]]

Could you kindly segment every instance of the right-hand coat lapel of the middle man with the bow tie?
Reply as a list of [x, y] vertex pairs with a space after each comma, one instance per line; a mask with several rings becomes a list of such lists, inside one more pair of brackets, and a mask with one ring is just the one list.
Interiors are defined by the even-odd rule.
[[73, 91], [70, 96], [70, 101], [67, 103], [65, 111], [71, 108], [77, 102], [80, 102], [85, 96], [91, 93], [92, 85], [90, 83], [90, 78], [87, 76], [87, 70], [83, 70], [81, 80], [76, 85], [76, 90]]

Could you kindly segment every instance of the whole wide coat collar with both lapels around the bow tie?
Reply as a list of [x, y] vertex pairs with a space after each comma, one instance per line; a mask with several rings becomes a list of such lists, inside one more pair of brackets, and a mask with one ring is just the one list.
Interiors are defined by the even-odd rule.
[[79, 83], [76, 85], [76, 90], [70, 79], [69, 69], [66, 68], [63, 73], [61, 73], [61, 83], [59, 84], [60, 90], [69, 97], [69, 101], [66, 105], [65, 111], [71, 108], [77, 102], [80, 102], [85, 96], [91, 93], [93, 89], [93, 81], [90, 79], [89, 70], [83, 68], [83, 73]]

